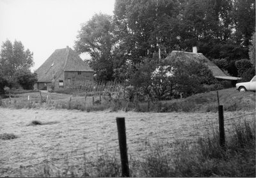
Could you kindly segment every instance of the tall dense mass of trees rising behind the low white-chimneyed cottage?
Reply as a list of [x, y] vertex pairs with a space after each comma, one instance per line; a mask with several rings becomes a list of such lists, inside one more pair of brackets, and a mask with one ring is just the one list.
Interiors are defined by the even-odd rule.
[[113, 13], [93, 15], [77, 35], [96, 79], [126, 80], [159, 49], [164, 59], [193, 46], [228, 75], [255, 74], [254, 0], [116, 0]]

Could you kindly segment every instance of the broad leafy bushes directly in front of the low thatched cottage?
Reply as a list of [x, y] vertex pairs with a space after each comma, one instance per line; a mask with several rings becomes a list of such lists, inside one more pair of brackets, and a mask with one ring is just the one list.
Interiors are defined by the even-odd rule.
[[[211, 85], [218, 84], [203, 61], [188, 63], [184, 60], [171, 63], [156, 57], [145, 58], [131, 71], [129, 81], [134, 87], [142, 87], [145, 94], [158, 100], [175, 98], [179, 93], [184, 96], [202, 93], [208, 91]], [[214, 89], [218, 88], [213, 86], [211, 90]]]

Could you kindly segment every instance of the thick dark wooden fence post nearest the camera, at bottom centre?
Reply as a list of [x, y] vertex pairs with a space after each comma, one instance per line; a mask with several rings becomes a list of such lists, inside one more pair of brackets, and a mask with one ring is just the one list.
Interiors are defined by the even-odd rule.
[[130, 177], [124, 117], [116, 117], [116, 124], [117, 124], [118, 140], [119, 140], [119, 148], [120, 148], [120, 156], [121, 156], [121, 164], [122, 164], [122, 177]]

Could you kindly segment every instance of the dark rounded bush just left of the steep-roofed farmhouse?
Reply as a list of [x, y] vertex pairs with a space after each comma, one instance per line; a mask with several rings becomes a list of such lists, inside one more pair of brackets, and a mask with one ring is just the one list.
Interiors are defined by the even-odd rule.
[[33, 89], [37, 81], [36, 73], [31, 73], [31, 71], [24, 69], [16, 71], [13, 78], [23, 89]]

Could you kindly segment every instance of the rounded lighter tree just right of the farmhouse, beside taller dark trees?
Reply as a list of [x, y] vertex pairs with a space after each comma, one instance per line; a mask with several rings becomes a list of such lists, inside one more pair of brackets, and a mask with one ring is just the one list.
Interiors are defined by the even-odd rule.
[[75, 50], [78, 54], [90, 54], [89, 65], [96, 71], [97, 79], [113, 79], [113, 28], [111, 16], [99, 13], [84, 23], [77, 35]]

